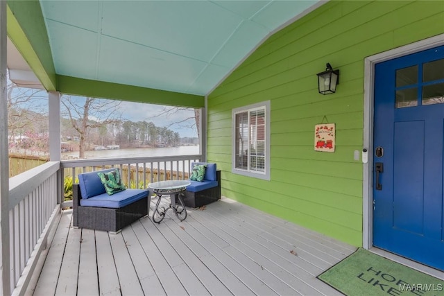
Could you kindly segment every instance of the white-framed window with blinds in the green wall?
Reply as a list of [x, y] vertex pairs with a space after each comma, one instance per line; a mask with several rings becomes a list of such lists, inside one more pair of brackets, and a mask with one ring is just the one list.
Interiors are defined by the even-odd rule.
[[232, 173], [270, 180], [270, 101], [232, 111]]

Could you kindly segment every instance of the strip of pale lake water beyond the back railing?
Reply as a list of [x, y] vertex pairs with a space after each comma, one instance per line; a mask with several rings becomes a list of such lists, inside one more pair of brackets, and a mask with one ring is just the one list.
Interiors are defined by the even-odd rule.
[[[85, 151], [86, 158], [116, 158], [116, 157], [155, 157], [169, 155], [196, 155], [199, 154], [199, 146], [179, 146], [162, 148], [121, 148], [114, 150]], [[78, 151], [63, 152], [62, 159], [78, 157]]]

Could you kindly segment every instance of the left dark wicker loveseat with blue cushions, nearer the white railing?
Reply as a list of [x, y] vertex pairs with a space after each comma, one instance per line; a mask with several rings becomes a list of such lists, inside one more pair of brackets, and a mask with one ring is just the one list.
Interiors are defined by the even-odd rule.
[[78, 175], [73, 185], [73, 226], [119, 232], [123, 227], [148, 215], [151, 191], [126, 189], [113, 195], [105, 191], [98, 173], [110, 168]]

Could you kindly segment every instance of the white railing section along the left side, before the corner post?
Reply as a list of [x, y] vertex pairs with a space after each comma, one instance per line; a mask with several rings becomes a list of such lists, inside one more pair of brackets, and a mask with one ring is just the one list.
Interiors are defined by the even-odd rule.
[[[60, 162], [47, 162], [9, 180], [10, 290], [23, 295], [51, 223], [60, 214]], [[6, 284], [6, 283], [5, 283]], [[17, 288], [16, 288], [17, 287]]]

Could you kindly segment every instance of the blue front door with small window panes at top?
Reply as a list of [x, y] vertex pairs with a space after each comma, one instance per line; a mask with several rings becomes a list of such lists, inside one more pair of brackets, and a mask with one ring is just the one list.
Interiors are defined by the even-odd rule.
[[375, 65], [373, 245], [444, 270], [444, 46]]

